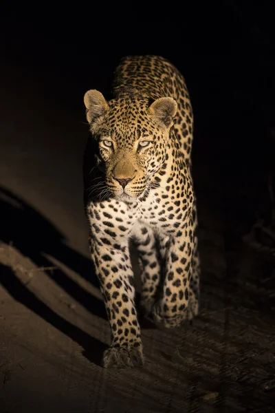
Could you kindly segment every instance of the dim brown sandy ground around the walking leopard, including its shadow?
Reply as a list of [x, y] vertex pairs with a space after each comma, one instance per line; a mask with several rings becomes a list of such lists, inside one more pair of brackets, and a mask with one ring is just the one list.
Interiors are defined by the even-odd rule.
[[84, 116], [1, 70], [0, 412], [274, 412], [274, 269], [227, 237], [209, 168], [197, 172], [199, 317], [144, 322], [144, 368], [100, 367], [111, 337], [89, 262]]

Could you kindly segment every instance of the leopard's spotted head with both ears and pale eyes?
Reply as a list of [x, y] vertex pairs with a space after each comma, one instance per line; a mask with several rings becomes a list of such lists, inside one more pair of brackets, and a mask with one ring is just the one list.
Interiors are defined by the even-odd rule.
[[107, 102], [100, 92], [89, 90], [84, 103], [96, 142], [94, 156], [109, 193], [115, 198], [142, 196], [166, 160], [176, 101], [118, 96]]

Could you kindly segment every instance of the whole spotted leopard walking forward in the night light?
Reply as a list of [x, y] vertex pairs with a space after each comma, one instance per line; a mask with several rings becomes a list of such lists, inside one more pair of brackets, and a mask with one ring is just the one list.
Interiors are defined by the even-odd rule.
[[[89, 249], [111, 328], [104, 368], [144, 365], [140, 315], [177, 328], [198, 315], [193, 114], [184, 76], [157, 55], [122, 58], [111, 98], [85, 93]], [[140, 304], [130, 245], [140, 262]]]

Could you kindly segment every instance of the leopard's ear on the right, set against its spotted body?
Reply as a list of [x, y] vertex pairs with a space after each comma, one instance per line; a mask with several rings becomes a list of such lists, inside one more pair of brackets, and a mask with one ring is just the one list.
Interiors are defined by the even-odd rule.
[[164, 123], [169, 129], [177, 113], [177, 102], [173, 98], [159, 98], [149, 106], [148, 111], [157, 122]]

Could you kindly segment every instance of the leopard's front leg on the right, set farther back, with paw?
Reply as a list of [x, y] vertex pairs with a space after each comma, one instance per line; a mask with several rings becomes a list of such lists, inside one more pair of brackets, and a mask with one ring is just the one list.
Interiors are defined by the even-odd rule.
[[[162, 297], [153, 308], [155, 324], [166, 328], [179, 326], [185, 319], [192, 319], [197, 313], [196, 286], [192, 282], [193, 255], [195, 248], [195, 236], [193, 231], [183, 231], [182, 237], [166, 238], [165, 251], [166, 266]], [[197, 282], [197, 279], [196, 279]], [[192, 288], [191, 288], [192, 287]]]

